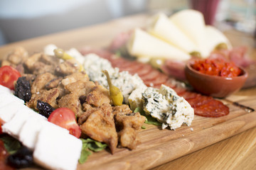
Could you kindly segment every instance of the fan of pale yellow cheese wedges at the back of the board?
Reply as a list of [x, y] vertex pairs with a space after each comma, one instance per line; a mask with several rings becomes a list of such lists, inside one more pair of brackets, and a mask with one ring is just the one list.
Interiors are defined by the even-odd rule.
[[206, 58], [223, 42], [231, 47], [223, 33], [206, 26], [201, 12], [188, 9], [169, 18], [164, 13], [151, 17], [146, 32], [134, 30], [127, 48], [139, 61], [148, 62], [152, 57], [184, 61], [191, 58], [191, 52]]

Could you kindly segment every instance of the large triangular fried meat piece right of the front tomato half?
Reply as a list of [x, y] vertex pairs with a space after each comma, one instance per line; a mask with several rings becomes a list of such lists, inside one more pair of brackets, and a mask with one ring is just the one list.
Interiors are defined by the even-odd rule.
[[114, 153], [114, 149], [117, 147], [117, 131], [110, 104], [104, 103], [92, 112], [80, 128], [85, 135], [93, 140], [105, 142]]

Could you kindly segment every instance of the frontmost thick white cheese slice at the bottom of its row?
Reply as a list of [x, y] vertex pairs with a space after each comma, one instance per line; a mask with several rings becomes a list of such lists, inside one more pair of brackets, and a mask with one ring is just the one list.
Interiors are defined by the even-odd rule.
[[47, 169], [75, 170], [81, 149], [81, 140], [57, 125], [46, 125], [38, 133], [33, 160]]

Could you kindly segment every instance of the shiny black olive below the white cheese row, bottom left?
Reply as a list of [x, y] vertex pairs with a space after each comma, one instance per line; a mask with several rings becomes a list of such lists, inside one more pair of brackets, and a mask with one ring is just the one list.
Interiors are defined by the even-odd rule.
[[21, 147], [7, 158], [7, 162], [16, 169], [26, 168], [33, 164], [33, 152], [27, 147]]

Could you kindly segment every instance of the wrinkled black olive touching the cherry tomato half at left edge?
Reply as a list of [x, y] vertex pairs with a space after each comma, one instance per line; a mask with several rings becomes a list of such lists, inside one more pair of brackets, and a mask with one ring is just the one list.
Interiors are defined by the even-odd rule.
[[18, 78], [14, 94], [25, 102], [31, 99], [31, 85], [26, 77]]

